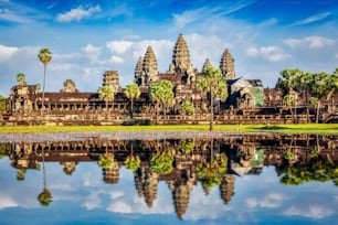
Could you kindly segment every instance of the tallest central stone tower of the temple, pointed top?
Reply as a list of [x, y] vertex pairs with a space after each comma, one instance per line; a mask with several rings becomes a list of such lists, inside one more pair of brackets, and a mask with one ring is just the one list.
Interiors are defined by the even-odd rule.
[[180, 34], [173, 49], [169, 73], [182, 73], [191, 69], [191, 67], [189, 49], [183, 35]]

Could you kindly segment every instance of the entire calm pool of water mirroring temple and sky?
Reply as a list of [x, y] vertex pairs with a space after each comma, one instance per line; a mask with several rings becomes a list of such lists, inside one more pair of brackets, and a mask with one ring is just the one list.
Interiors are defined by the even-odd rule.
[[1, 224], [335, 224], [337, 138], [0, 135]]

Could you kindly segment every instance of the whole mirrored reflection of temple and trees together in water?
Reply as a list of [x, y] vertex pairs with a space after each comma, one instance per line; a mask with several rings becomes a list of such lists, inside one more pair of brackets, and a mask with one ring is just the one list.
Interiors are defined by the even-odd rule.
[[[114, 140], [84, 138], [77, 141], [0, 143], [0, 149], [18, 169], [43, 169], [42, 205], [52, 202], [46, 189], [46, 162], [60, 162], [67, 175], [82, 162], [97, 163], [106, 183], [117, 183], [124, 164], [134, 173], [138, 196], [148, 207], [157, 197], [158, 183], [166, 181], [180, 219], [189, 207], [190, 193], [200, 183], [204, 192], [219, 186], [224, 204], [235, 196], [235, 176], [260, 174], [265, 165], [275, 167], [279, 182], [299, 185], [311, 181], [338, 184], [337, 141], [334, 136], [243, 135], [224, 138]], [[45, 154], [45, 150], [47, 154]], [[67, 168], [67, 169], [66, 169]]]

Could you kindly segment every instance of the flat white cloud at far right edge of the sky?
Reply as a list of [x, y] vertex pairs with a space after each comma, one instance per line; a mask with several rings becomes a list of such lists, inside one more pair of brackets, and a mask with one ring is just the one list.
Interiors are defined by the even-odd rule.
[[337, 43], [337, 41], [324, 36], [307, 36], [304, 39], [286, 39], [284, 40], [284, 43], [292, 49], [305, 47], [309, 50], [318, 50], [332, 46]]

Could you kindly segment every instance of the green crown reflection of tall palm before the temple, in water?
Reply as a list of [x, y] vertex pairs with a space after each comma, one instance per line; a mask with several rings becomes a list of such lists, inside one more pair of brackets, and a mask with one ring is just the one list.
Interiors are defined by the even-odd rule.
[[197, 176], [208, 188], [220, 185], [226, 173], [228, 158], [225, 154], [216, 156], [211, 162], [202, 162], [197, 167]]

